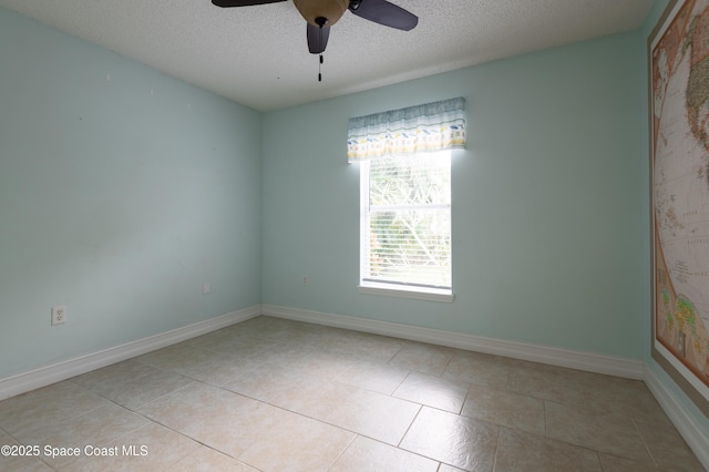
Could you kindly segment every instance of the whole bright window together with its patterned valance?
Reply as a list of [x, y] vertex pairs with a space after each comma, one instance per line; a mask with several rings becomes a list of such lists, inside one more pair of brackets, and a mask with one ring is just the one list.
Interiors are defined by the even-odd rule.
[[360, 291], [452, 301], [451, 150], [465, 145], [465, 100], [350, 119], [361, 162]]

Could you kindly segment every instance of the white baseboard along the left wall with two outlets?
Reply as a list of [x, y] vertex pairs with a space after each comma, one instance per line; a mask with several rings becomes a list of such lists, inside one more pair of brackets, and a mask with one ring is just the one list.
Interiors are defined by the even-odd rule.
[[41, 367], [29, 372], [0, 379], [0, 400], [14, 397], [71, 377], [86, 373], [91, 370], [110, 366], [122, 360], [141, 356], [166, 346], [174, 345], [196, 336], [226, 328], [227, 326], [246, 321], [261, 314], [260, 305], [255, 305], [238, 311], [210, 318], [183, 328], [161, 332], [136, 341], [126, 342], [97, 352], [80, 356], [52, 366]]

